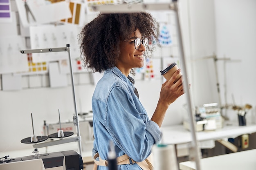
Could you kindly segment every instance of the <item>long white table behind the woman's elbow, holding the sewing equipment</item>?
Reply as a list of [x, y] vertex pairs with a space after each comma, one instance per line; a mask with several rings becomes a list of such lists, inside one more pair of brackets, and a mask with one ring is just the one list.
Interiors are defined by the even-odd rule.
[[[213, 148], [215, 141], [228, 138], [235, 138], [244, 134], [256, 132], [256, 124], [247, 126], [238, 126], [237, 124], [228, 123], [229, 126], [224, 126], [221, 129], [211, 131], [196, 132], [196, 139], [199, 148]], [[163, 132], [162, 143], [175, 145], [177, 157], [182, 157], [189, 154], [188, 144], [192, 141], [192, 135], [189, 130], [186, 130], [183, 125], [166, 126], [161, 128]]]

